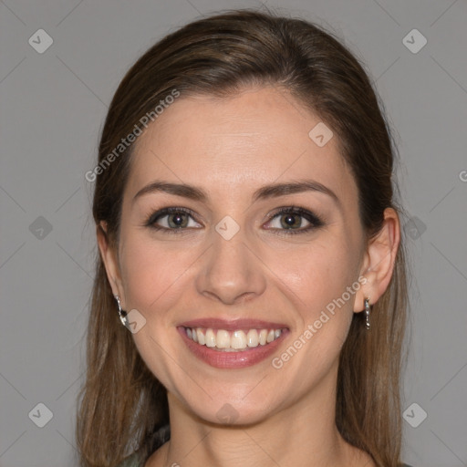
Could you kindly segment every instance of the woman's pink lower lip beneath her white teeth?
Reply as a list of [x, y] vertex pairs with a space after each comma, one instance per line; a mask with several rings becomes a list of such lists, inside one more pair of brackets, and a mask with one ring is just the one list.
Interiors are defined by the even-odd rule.
[[186, 335], [184, 327], [178, 327], [178, 331], [187, 347], [192, 351], [195, 357], [200, 358], [203, 362], [211, 365], [214, 368], [246, 368], [252, 367], [256, 363], [271, 357], [278, 346], [281, 345], [288, 330], [283, 330], [280, 337], [277, 337], [273, 342], [265, 346], [245, 348], [235, 352], [223, 352], [222, 350], [213, 350], [206, 346], [202, 346], [194, 342]]

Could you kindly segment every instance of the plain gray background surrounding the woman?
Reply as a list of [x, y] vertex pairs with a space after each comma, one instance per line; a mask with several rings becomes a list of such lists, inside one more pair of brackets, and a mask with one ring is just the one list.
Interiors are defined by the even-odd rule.
[[[174, 28], [219, 9], [256, 5], [0, 0], [2, 467], [77, 464], [76, 396], [96, 252], [93, 187], [84, 174], [94, 166], [119, 80]], [[467, 465], [467, 4], [265, 5], [330, 27], [376, 81], [397, 129], [398, 177], [410, 214], [404, 232], [414, 278], [404, 410], [418, 406], [405, 412], [404, 461]], [[42, 54], [28, 43], [39, 28], [53, 38]], [[428, 41], [418, 53], [403, 42], [414, 28]], [[412, 36], [406, 41], [420, 47], [421, 37]], [[47, 421], [40, 402], [53, 413], [44, 428], [36, 426]], [[421, 410], [428, 414], [422, 422]]]

